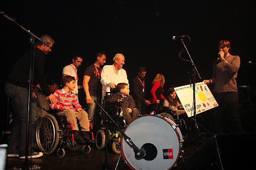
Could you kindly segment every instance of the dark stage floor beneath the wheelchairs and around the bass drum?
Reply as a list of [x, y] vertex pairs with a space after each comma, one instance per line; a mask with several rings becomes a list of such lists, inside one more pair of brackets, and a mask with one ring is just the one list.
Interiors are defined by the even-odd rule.
[[[204, 144], [210, 136], [198, 138], [198, 148]], [[56, 151], [52, 155], [41, 156], [40, 158], [29, 159], [29, 167], [36, 165], [41, 167], [41, 170], [102, 170], [102, 163], [105, 163], [105, 149], [97, 150], [95, 144], [91, 144], [91, 151], [88, 154], [82, 152], [82, 150], [71, 151], [65, 149], [66, 155], [63, 158], [58, 158]], [[113, 170], [116, 169], [116, 165], [119, 159], [119, 155], [113, 153], [112, 148], [108, 147], [109, 161], [111, 162], [111, 167]], [[191, 153], [195, 152], [195, 139], [191, 139], [190, 146], [188, 143], [184, 143], [182, 150], [184, 151], [183, 156], [186, 161], [186, 157]], [[14, 170], [15, 167], [24, 167], [24, 159], [19, 158], [7, 158], [6, 170]], [[108, 162], [109, 164], [109, 162]], [[117, 165], [117, 170], [129, 170], [130, 168], [125, 164], [124, 159], [121, 157], [119, 164]], [[173, 168], [174, 170], [184, 169], [182, 164], [182, 158], [177, 161], [177, 166]], [[160, 169], [159, 169], [160, 170]]]

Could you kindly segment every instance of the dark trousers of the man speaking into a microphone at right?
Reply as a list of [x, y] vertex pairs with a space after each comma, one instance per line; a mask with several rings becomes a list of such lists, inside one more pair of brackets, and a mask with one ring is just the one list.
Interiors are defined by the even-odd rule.
[[[225, 133], [225, 123], [230, 123], [232, 133], [243, 133], [239, 117], [238, 92], [220, 92], [213, 95], [219, 105], [212, 110], [215, 133]], [[228, 122], [224, 121], [225, 117], [228, 118]]]

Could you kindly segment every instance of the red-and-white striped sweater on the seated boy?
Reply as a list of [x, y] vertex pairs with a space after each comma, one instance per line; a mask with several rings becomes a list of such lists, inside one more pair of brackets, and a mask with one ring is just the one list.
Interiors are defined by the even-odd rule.
[[58, 89], [53, 95], [55, 95], [57, 102], [56, 104], [50, 104], [52, 109], [63, 110], [64, 107], [69, 107], [70, 110], [76, 111], [78, 108], [81, 108], [81, 105], [73, 92], [67, 94], [64, 89]]

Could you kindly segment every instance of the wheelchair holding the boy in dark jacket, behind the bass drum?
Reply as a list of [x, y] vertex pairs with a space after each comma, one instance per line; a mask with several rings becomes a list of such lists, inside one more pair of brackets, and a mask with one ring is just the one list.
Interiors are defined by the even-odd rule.
[[[111, 118], [113, 119], [113, 121], [115, 121], [118, 127], [124, 130], [126, 127], [126, 123], [124, 118], [122, 117], [121, 111], [123, 101], [119, 101], [117, 104], [110, 104], [109, 96], [111, 95], [111, 93], [115, 93], [115, 91], [106, 92], [106, 96], [102, 101], [102, 108], [111, 116]], [[108, 119], [108, 116], [105, 115], [105, 112], [103, 112], [102, 110], [100, 110], [100, 115], [102, 117], [103, 122], [105, 118]], [[111, 122], [111, 120], [108, 119], [108, 122], [105, 123], [108, 123], [108, 143], [110, 144], [110, 146], [112, 146], [112, 150], [114, 153], [120, 154], [120, 137], [122, 133], [119, 132], [118, 128], [113, 122]], [[103, 124], [102, 128], [96, 132], [95, 144], [98, 150], [103, 150], [106, 147], [105, 131], [106, 128]]]

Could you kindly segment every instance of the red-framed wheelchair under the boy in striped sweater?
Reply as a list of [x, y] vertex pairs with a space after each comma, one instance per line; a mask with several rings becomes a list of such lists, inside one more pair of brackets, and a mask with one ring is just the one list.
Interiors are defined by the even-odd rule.
[[94, 142], [93, 125], [91, 123], [90, 137], [92, 140], [87, 143], [74, 141], [73, 125], [67, 123], [65, 116], [59, 116], [55, 112], [44, 114], [40, 118], [36, 130], [36, 141], [41, 152], [50, 155], [58, 148], [56, 153], [59, 158], [65, 156], [65, 147], [73, 151], [82, 148], [84, 153], [90, 153], [89, 143]]

